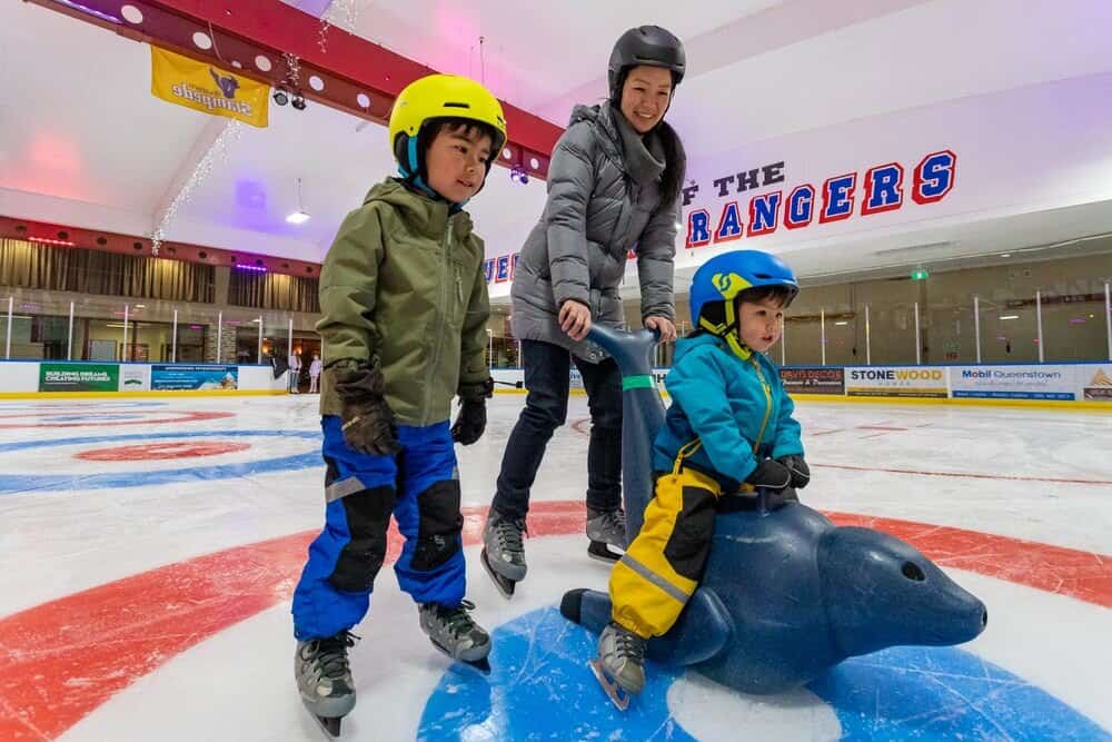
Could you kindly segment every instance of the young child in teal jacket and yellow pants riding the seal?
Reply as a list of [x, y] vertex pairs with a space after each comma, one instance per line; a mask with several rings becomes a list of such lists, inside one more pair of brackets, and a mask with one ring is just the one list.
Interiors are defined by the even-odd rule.
[[798, 290], [787, 266], [757, 250], [721, 255], [695, 273], [696, 333], [676, 344], [665, 379], [672, 406], [653, 447], [656, 493], [610, 573], [612, 623], [597, 660], [608, 692], [644, 687], [645, 642], [672, 627], [698, 586], [718, 499], [762, 487], [776, 508], [811, 478], [795, 405], [765, 355]]

